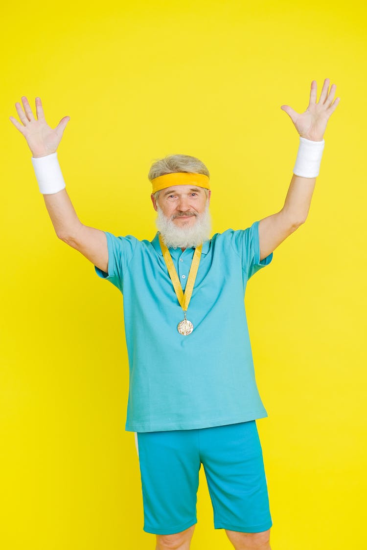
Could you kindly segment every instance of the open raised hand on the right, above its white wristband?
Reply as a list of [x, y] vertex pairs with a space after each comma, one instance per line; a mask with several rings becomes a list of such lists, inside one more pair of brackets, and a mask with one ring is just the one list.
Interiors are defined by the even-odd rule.
[[304, 113], [297, 113], [289, 105], [281, 106], [281, 109], [291, 117], [295, 128], [302, 138], [311, 141], [322, 141], [324, 139], [327, 121], [340, 101], [340, 97], [337, 97], [333, 102], [336, 84], [332, 84], [330, 92], [328, 91], [329, 84], [330, 79], [326, 78], [324, 86], [322, 86], [319, 103], [316, 103], [317, 83], [316, 80], [312, 81], [310, 102]]

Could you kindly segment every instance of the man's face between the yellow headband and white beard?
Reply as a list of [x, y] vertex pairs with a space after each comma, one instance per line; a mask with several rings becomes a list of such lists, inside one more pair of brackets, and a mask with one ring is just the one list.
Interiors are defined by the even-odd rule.
[[192, 227], [210, 201], [210, 190], [206, 197], [202, 187], [173, 185], [162, 189], [157, 201], [154, 195], [151, 195], [151, 200], [154, 210], [157, 211], [159, 206], [163, 215], [172, 219], [176, 227]]

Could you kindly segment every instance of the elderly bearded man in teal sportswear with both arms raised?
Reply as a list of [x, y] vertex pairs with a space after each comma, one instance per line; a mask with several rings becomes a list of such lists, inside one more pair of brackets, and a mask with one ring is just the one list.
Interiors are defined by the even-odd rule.
[[244, 308], [248, 279], [305, 222], [319, 174], [327, 120], [338, 105], [329, 80], [316, 103], [311, 83], [302, 114], [284, 105], [300, 136], [291, 185], [280, 212], [210, 238], [210, 178], [195, 157], [171, 155], [149, 173], [158, 233], [152, 241], [79, 221], [57, 147], [69, 117], [48, 127], [26, 97], [15, 103], [57, 236], [79, 250], [99, 277], [124, 295], [129, 356], [125, 429], [135, 432], [144, 530], [157, 549], [190, 547], [199, 470], [204, 467], [215, 529], [237, 550], [270, 549], [272, 519], [256, 419], [267, 416], [256, 387]]

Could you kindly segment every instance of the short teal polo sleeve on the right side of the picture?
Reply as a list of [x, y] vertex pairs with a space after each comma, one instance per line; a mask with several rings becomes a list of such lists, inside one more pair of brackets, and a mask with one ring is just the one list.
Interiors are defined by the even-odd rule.
[[262, 267], [269, 265], [273, 259], [273, 253], [260, 261], [259, 221], [247, 229], [234, 231], [232, 244], [242, 257], [242, 269], [247, 273], [247, 279], [252, 277]]

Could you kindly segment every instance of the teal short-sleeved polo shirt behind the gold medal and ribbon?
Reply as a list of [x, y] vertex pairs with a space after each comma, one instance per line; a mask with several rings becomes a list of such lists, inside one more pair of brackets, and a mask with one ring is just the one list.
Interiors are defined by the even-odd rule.
[[[216, 233], [202, 245], [187, 318], [194, 331], [183, 336], [183, 320], [163, 259], [158, 233], [152, 241], [104, 232], [108, 273], [123, 294], [129, 357], [125, 430], [192, 430], [267, 416], [255, 381], [245, 313], [248, 279], [260, 262], [259, 221], [242, 230]], [[194, 249], [169, 249], [185, 289]]]

